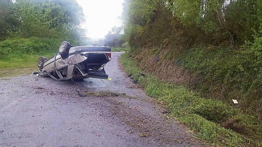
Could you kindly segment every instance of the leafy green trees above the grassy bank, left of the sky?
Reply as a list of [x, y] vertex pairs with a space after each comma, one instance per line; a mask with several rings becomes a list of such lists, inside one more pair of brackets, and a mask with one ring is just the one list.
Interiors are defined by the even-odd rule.
[[[7, 37], [54, 37], [77, 41], [82, 36], [82, 8], [74, 0], [2, 0]], [[7, 17], [8, 15], [8, 17]], [[9, 20], [9, 21], [7, 21]]]

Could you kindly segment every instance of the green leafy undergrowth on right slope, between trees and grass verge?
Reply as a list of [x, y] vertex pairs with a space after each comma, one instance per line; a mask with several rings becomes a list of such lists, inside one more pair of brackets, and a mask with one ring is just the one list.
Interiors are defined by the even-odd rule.
[[243, 111], [256, 115], [262, 121], [261, 53], [262, 37], [239, 50], [190, 48], [174, 63], [203, 77], [202, 84], [196, 85], [203, 95], [225, 102], [237, 99]]

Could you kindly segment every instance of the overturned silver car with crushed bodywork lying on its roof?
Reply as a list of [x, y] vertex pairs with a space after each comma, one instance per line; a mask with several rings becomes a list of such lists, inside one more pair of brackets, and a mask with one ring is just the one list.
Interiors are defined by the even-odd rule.
[[50, 76], [57, 81], [107, 79], [104, 66], [111, 60], [111, 48], [107, 46], [75, 46], [62, 42], [59, 52], [50, 59], [37, 61], [40, 76]]

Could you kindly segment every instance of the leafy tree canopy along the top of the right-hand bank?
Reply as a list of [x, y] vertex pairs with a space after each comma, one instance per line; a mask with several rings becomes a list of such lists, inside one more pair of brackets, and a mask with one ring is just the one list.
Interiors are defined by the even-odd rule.
[[[261, 24], [260, 12], [261, 1], [258, 0], [126, 0], [123, 19], [128, 42], [137, 36], [144, 37], [150, 26], [156, 24], [156, 18], [162, 18], [169, 20], [163, 22], [163, 27], [171, 25], [181, 29], [181, 38], [188, 38], [191, 43], [233, 46], [254, 40], [253, 34]], [[158, 30], [161, 29], [153, 31]], [[137, 45], [144, 44], [131, 46], [136, 48]]]

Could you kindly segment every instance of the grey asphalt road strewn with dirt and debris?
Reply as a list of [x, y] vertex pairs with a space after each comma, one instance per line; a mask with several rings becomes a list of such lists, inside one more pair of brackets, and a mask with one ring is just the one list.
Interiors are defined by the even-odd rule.
[[[0, 146], [206, 146], [163, 106], [147, 97], [112, 53], [111, 81], [58, 82], [24, 75], [0, 79]], [[116, 91], [128, 97], [80, 97], [77, 90]]]

